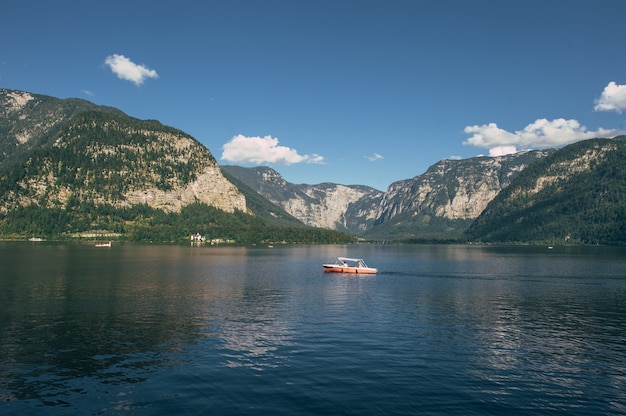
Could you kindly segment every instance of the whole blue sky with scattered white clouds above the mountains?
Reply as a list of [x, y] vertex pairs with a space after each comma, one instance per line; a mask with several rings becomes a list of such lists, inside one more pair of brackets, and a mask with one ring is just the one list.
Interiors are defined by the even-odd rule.
[[0, 88], [369, 185], [626, 130], [626, 1], [3, 0]]

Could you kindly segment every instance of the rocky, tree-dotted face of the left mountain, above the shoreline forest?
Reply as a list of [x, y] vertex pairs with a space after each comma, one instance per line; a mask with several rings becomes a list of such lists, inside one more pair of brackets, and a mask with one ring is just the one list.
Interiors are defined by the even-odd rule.
[[21, 156], [5, 152], [0, 212], [76, 201], [147, 204], [167, 212], [200, 202], [248, 212], [244, 195], [189, 135], [75, 101], [80, 110], [68, 112], [65, 100], [2, 91], [2, 122], [9, 126], [2, 143], [9, 149], [36, 145]]

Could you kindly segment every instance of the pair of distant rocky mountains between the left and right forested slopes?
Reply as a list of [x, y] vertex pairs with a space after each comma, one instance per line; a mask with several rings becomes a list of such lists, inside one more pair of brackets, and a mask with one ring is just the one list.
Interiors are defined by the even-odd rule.
[[442, 160], [384, 193], [359, 185], [296, 185], [269, 167], [222, 169], [311, 226], [372, 239], [441, 239], [460, 236], [515, 176], [552, 152]]

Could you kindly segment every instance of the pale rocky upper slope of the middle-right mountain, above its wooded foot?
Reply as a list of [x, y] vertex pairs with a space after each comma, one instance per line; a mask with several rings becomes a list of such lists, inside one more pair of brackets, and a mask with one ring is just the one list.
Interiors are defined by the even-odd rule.
[[475, 219], [519, 172], [549, 152], [442, 160], [422, 175], [391, 184], [376, 224], [407, 213], [447, 220]]

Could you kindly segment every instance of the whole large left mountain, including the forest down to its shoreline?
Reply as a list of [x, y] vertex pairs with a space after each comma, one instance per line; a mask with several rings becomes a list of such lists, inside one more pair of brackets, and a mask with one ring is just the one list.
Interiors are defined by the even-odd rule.
[[222, 172], [188, 134], [77, 99], [0, 90], [0, 234], [352, 242], [313, 229]]

